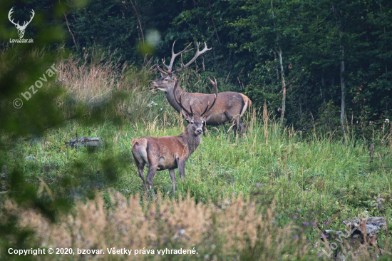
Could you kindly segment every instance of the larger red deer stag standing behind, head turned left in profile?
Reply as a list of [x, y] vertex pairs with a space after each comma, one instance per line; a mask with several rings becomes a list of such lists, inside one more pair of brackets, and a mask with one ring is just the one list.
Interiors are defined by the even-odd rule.
[[[181, 106], [177, 103], [177, 101], [175, 101], [175, 97], [180, 95], [185, 101], [186, 107], [189, 107], [189, 105], [192, 103], [193, 109], [195, 111], [201, 111], [202, 108], [205, 108], [207, 103], [210, 103], [212, 101], [214, 95], [204, 93], [187, 93], [186, 91], [183, 91], [180, 86], [177, 88], [177, 91], [173, 92], [173, 89], [175, 87], [175, 76], [177, 73], [184, 70], [185, 68], [190, 66], [191, 63], [196, 61], [197, 57], [200, 56], [200, 54], [211, 50], [211, 48], [207, 48], [207, 44], [205, 44], [205, 47], [202, 49], [202, 51], [200, 51], [200, 43], [197, 43], [197, 51], [192, 60], [190, 60], [187, 64], [184, 65], [181, 59], [181, 67], [173, 71], [172, 66], [175, 61], [175, 58], [179, 55], [181, 55], [182, 57], [182, 53], [192, 51], [192, 49], [187, 50], [187, 48], [189, 48], [189, 46], [191, 45], [189, 44], [184, 50], [180, 51], [179, 53], [174, 53], [174, 45], [175, 42], [172, 46], [172, 58], [169, 66], [165, 64], [165, 61], [163, 61], [163, 65], [166, 67], [166, 69], [160, 68], [157, 61], [156, 67], [158, 68], [158, 71], [160, 71], [162, 78], [153, 81], [151, 83], [151, 87], [156, 88], [160, 91], [165, 91], [167, 101], [179, 113], [181, 111]], [[217, 104], [215, 105], [215, 107], [212, 108], [212, 110], [210, 111], [211, 117], [209, 120], [206, 121], [206, 124], [210, 126], [217, 126], [223, 123], [232, 122], [234, 123], [234, 133], [237, 133], [237, 131], [243, 133], [244, 124], [242, 123], [240, 117], [247, 110], [248, 106], [252, 105], [252, 101], [250, 101], [250, 99], [247, 98], [247, 96], [244, 96], [244, 94], [242, 93], [226, 91], [219, 94], [219, 98], [217, 98], [216, 103]]]

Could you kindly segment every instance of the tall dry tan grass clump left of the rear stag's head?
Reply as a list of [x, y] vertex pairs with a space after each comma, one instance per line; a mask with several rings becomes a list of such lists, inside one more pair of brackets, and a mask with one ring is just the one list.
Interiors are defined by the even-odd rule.
[[61, 59], [56, 69], [57, 82], [66, 93], [57, 101], [65, 118], [72, 118], [78, 107], [88, 113], [91, 108], [103, 106], [114, 93], [121, 93], [123, 98], [116, 100], [110, 113], [131, 121], [148, 114], [145, 108], [151, 100], [148, 85], [154, 73], [150, 61], [138, 68], [133, 64], [120, 64], [113, 56], [86, 53], [83, 59], [73, 56]]

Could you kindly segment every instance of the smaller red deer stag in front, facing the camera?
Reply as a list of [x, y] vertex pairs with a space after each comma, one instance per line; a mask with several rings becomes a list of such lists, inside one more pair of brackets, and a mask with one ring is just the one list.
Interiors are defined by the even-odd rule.
[[[210, 79], [211, 81], [211, 79]], [[180, 78], [175, 81], [175, 87], [173, 91], [180, 85]], [[165, 136], [165, 137], [143, 137], [132, 140], [132, 154], [135, 160], [136, 166], [138, 167], [138, 173], [140, 178], [143, 180], [145, 190], [153, 189], [153, 178], [157, 170], [169, 170], [170, 178], [172, 179], [173, 191], [175, 193], [175, 169], [178, 168], [180, 177], [185, 181], [185, 162], [190, 155], [197, 149], [200, 142], [202, 141], [201, 135], [203, 133], [202, 126], [205, 121], [210, 119], [210, 110], [214, 107], [215, 101], [217, 101], [217, 86], [211, 81], [215, 89], [215, 98], [212, 101], [212, 105], [207, 103], [205, 110], [202, 113], [196, 113], [190, 105], [190, 111], [188, 111], [182, 105], [182, 95], [175, 100], [182, 109], [182, 115], [188, 122], [185, 131], [177, 136]], [[212, 94], [214, 96], [214, 94]], [[209, 108], [210, 107], [210, 108]], [[148, 167], [148, 173], [145, 177], [148, 186], [145, 183], [143, 169], [144, 166]]]

